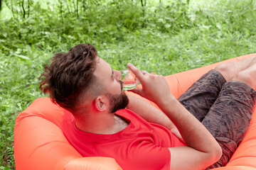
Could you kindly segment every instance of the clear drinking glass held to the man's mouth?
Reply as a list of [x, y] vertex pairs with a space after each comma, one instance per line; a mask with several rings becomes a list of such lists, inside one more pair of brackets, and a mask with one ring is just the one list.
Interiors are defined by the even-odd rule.
[[122, 73], [121, 81], [123, 82], [123, 89], [132, 90], [139, 84], [139, 79], [129, 69], [123, 69], [120, 71]]

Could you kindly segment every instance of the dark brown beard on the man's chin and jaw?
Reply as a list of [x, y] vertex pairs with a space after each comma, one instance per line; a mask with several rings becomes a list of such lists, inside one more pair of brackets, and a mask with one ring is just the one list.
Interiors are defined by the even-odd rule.
[[121, 84], [121, 94], [113, 95], [107, 93], [107, 97], [110, 100], [110, 113], [115, 113], [116, 111], [126, 108], [129, 103], [129, 98], [122, 91], [122, 82]]

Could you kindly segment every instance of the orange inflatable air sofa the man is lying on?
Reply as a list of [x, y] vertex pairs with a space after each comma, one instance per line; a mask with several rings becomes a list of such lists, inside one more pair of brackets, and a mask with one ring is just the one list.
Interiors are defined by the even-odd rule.
[[[223, 62], [238, 61], [252, 56], [256, 56], [256, 53]], [[220, 63], [222, 62], [166, 76], [171, 92], [178, 98], [194, 81]], [[147, 101], [145, 98], [142, 99]], [[17, 170], [122, 169], [113, 158], [81, 157], [63, 135], [63, 113], [63, 108], [53, 104], [48, 97], [36, 99], [25, 111], [19, 113], [14, 128], [14, 158]], [[256, 170], [255, 111], [252, 113], [250, 127], [242, 143], [228, 164], [218, 170]]]

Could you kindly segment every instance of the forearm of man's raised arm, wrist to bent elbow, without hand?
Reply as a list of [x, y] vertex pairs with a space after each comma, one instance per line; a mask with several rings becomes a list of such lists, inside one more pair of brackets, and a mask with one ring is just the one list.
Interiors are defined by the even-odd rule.
[[220, 149], [210, 132], [174, 96], [170, 95], [169, 100], [157, 104], [174, 122], [188, 147], [206, 153]]

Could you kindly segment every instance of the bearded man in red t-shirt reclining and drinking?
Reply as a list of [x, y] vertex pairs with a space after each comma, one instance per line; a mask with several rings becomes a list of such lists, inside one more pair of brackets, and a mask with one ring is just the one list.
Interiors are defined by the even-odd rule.
[[42, 74], [42, 91], [69, 111], [64, 134], [83, 157], [113, 157], [132, 170], [210, 169], [228, 162], [250, 123], [254, 58], [221, 64], [178, 100], [164, 77], [127, 66], [142, 84], [132, 91], [161, 111], [126, 96], [120, 72], [90, 44], [58, 53]]

